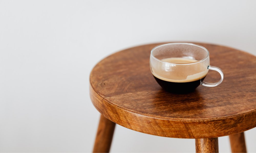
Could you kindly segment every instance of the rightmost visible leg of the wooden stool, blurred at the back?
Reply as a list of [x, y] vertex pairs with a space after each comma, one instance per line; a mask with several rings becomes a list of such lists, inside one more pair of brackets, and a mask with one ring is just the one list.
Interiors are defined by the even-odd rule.
[[229, 141], [232, 152], [246, 152], [244, 133], [229, 135]]

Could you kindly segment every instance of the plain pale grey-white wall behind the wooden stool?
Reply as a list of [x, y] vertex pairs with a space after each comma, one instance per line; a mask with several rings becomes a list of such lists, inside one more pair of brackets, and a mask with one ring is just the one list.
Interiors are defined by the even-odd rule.
[[[0, 1], [0, 152], [91, 152], [89, 74], [131, 46], [208, 42], [256, 55], [256, 1]], [[256, 152], [256, 129], [246, 133]], [[228, 137], [220, 152], [230, 152]], [[194, 152], [116, 126], [112, 152]]]

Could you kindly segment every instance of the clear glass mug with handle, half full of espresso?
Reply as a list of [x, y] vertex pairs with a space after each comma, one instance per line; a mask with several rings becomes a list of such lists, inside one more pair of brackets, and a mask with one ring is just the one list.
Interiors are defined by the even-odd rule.
[[[168, 43], [151, 50], [150, 69], [157, 83], [168, 92], [188, 93], [200, 84], [207, 87], [219, 85], [224, 74], [218, 67], [210, 66], [209, 51], [192, 43]], [[216, 83], [203, 82], [208, 70], [220, 73]]]

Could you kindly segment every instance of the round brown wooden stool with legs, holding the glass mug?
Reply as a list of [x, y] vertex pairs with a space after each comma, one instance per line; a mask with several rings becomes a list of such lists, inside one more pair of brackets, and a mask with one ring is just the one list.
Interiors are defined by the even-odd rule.
[[[102, 114], [93, 152], [109, 152], [115, 123], [152, 135], [194, 138], [196, 152], [218, 152], [218, 137], [229, 135], [232, 152], [246, 152], [243, 131], [256, 126], [256, 57], [196, 43], [209, 50], [210, 63], [223, 70], [224, 80], [216, 87], [172, 94], [162, 90], [150, 71], [150, 52], [159, 44], [122, 50], [93, 68], [90, 96]], [[209, 71], [205, 81], [219, 78]]]

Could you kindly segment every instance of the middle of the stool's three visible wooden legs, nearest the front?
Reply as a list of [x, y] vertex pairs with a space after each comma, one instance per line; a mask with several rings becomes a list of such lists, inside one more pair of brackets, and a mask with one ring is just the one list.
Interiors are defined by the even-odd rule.
[[219, 152], [218, 138], [196, 139], [196, 152]]

